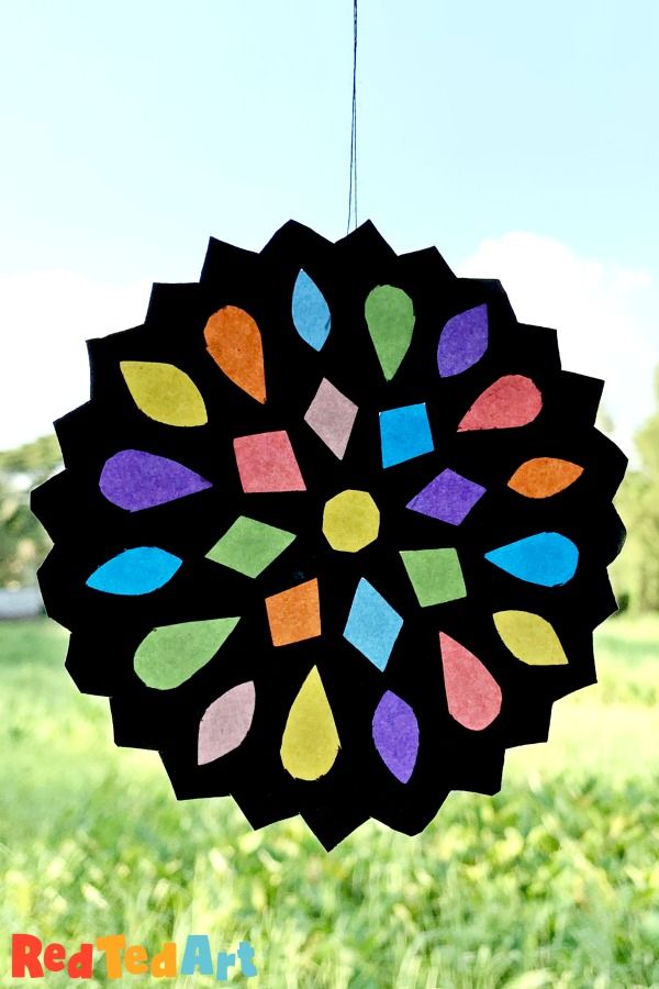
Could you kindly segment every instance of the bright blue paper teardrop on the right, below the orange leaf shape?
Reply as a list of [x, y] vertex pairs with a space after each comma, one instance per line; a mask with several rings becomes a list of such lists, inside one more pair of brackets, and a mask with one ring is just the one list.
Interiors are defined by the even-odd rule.
[[574, 576], [579, 549], [559, 532], [538, 532], [485, 553], [485, 559], [520, 580], [558, 587]]

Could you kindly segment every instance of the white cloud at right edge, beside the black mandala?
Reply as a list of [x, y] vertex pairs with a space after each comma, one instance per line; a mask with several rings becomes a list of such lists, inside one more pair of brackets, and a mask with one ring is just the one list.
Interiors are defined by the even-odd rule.
[[632, 453], [634, 432], [654, 408], [659, 365], [657, 286], [650, 276], [521, 232], [483, 241], [458, 274], [498, 278], [517, 319], [558, 330], [562, 366], [605, 380], [603, 405], [616, 441]]

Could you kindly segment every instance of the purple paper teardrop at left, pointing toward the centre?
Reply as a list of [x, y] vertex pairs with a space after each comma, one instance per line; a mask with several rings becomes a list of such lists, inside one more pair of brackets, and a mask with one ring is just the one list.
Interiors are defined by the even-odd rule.
[[138, 512], [196, 494], [212, 485], [177, 460], [144, 449], [121, 449], [105, 460], [99, 487], [112, 504]]

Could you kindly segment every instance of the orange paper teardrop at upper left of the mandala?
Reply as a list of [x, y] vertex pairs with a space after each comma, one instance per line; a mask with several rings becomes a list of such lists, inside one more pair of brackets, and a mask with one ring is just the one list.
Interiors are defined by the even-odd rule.
[[226, 377], [263, 404], [264, 346], [256, 321], [237, 305], [224, 305], [209, 319], [203, 335], [209, 354]]

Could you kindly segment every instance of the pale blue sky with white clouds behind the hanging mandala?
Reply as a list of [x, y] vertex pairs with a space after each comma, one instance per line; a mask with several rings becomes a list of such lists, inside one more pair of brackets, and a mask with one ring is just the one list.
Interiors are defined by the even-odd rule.
[[[345, 233], [351, 30], [350, 0], [0, 0], [0, 446], [83, 400], [85, 336], [196, 279], [209, 235]], [[360, 2], [360, 219], [560, 321], [627, 441], [659, 362], [658, 38], [654, 0]]]

